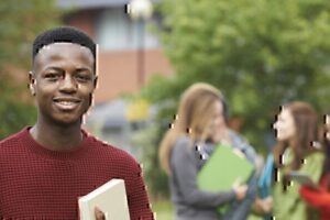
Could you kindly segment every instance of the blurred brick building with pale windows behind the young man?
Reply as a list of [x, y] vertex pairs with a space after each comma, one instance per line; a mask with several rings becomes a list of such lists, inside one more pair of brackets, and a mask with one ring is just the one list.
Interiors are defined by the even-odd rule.
[[[144, 28], [125, 12], [129, 2], [57, 0], [59, 8], [70, 10], [64, 18], [65, 23], [84, 30], [99, 44], [96, 105], [122, 92], [138, 91], [154, 74], [169, 76], [174, 72], [148, 25]], [[160, 25], [160, 16], [153, 14], [146, 21], [146, 24], [151, 23]]]

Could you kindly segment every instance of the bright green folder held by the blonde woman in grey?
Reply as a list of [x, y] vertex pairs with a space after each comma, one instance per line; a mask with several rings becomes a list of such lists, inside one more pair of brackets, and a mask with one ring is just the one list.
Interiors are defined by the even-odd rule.
[[[254, 170], [254, 166], [243, 156], [228, 145], [216, 146], [210, 158], [206, 162], [197, 176], [199, 189], [210, 193], [229, 191], [237, 179], [246, 183]], [[217, 210], [227, 211], [228, 206]]]

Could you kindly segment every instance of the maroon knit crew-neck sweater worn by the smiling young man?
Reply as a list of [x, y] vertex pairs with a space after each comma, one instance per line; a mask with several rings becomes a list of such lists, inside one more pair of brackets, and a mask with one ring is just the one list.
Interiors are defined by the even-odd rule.
[[0, 142], [0, 219], [78, 219], [77, 198], [125, 182], [131, 220], [153, 219], [139, 164], [84, 132], [73, 152], [37, 144], [29, 128]]

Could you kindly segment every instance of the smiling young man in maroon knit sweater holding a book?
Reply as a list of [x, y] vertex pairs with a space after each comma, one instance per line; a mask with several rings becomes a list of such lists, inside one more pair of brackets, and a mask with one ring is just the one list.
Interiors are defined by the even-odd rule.
[[96, 44], [57, 28], [35, 38], [32, 57], [37, 120], [0, 142], [0, 219], [78, 219], [78, 198], [112, 178], [125, 182], [131, 220], [153, 219], [139, 164], [81, 130], [97, 84]]

